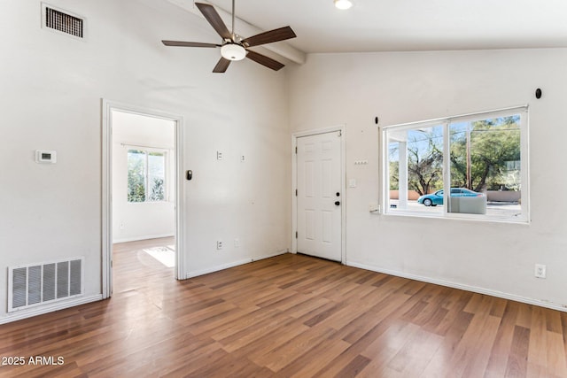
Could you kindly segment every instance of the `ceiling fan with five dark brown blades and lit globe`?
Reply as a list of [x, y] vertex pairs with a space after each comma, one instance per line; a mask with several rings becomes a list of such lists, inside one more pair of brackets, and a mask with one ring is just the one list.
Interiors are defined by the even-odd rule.
[[195, 3], [198, 10], [203, 13], [206, 20], [214, 27], [214, 30], [221, 35], [222, 43], [203, 43], [203, 42], [183, 42], [183, 41], [161, 41], [166, 46], [181, 46], [181, 47], [207, 47], [207, 48], [221, 48], [221, 59], [214, 66], [214, 73], [224, 73], [229, 68], [230, 62], [233, 60], [242, 60], [244, 58], [252, 59], [262, 66], [277, 71], [284, 65], [272, 58], [268, 58], [256, 51], [248, 50], [249, 47], [260, 46], [262, 44], [284, 41], [290, 38], [295, 38], [297, 35], [291, 30], [291, 27], [280, 27], [278, 29], [269, 30], [268, 32], [260, 33], [259, 35], [252, 35], [248, 38], [241, 38], [234, 32], [234, 3], [232, 0], [232, 32], [224, 24], [219, 16], [219, 13], [214, 10], [213, 5], [204, 3]]

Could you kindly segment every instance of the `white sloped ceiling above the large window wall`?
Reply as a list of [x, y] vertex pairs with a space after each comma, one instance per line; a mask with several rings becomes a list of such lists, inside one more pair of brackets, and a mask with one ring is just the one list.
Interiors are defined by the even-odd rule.
[[[231, 0], [209, 3], [231, 11]], [[307, 53], [567, 47], [566, 0], [353, 3], [339, 11], [332, 0], [236, 0], [236, 13], [261, 30], [291, 26], [298, 37], [288, 43]]]

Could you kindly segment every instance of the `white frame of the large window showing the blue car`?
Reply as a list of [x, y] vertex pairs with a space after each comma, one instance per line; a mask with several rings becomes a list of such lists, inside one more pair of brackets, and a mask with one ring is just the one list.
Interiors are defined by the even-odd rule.
[[[457, 122], [470, 122], [475, 120], [490, 120], [495, 118], [509, 117], [512, 115], [520, 115], [520, 213], [513, 217], [509, 215], [489, 215], [489, 214], [470, 214], [459, 212], [448, 212], [448, 199], [451, 190], [451, 160], [450, 160], [450, 126]], [[390, 156], [389, 156], [389, 140], [388, 135], [392, 131], [408, 131], [416, 128], [426, 127], [443, 127], [443, 212], [422, 212], [412, 211], [409, 209], [393, 209], [390, 207]], [[480, 220], [480, 221], [496, 221], [506, 223], [530, 223], [530, 181], [529, 181], [529, 107], [528, 105], [520, 105], [509, 108], [502, 108], [493, 111], [475, 112], [434, 120], [423, 120], [416, 122], [408, 122], [402, 124], [394, 124], [380, 127], [380, 166], [381, 166], [381, 190], [380, 190], [380, 207], [383, 209], [384, 215], [400, 215], [413, 216], [435, 219], [457, 219], [457, 220]], [[437, 191], [437, 190], [435, 190]]]

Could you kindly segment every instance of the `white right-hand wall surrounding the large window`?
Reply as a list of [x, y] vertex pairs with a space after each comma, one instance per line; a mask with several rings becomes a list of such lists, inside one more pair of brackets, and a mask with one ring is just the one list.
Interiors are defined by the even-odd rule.
[[[347, 264], [554, 307], [567, 305], [567, 50], [314, 54], [291, 69], [293, 131], [346, 124]], [[543, 90], [536, 100], [534, 91]], [[369, 213], [378, 127], [530, 106], [530, 225]], [[368, 160], [354, 166], [355, 160]], [[533, 276], [534, 264], [548, 278]]]

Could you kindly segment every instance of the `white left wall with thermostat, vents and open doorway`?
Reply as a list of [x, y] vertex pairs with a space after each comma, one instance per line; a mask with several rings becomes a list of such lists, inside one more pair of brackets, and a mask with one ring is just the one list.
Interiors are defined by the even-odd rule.
[[[205, 19], [167, 2], [49, 3], [87, 19], [84, 41], [40, 27], [38, 0], [3, 2], [0, 322], [14, 319], [7, 266], [85, 256], [85, 297], [101, 296], [101, 98], [183, 116], [181, 164], [194, 172], [182, 200], [188, 274], [286, 251], [285, 70], [245, 60], [214, 74], [218, 50], [163, 46], [218, 41]], [[57, 150], [58, 163], [35, 164], [36, 149]]]

